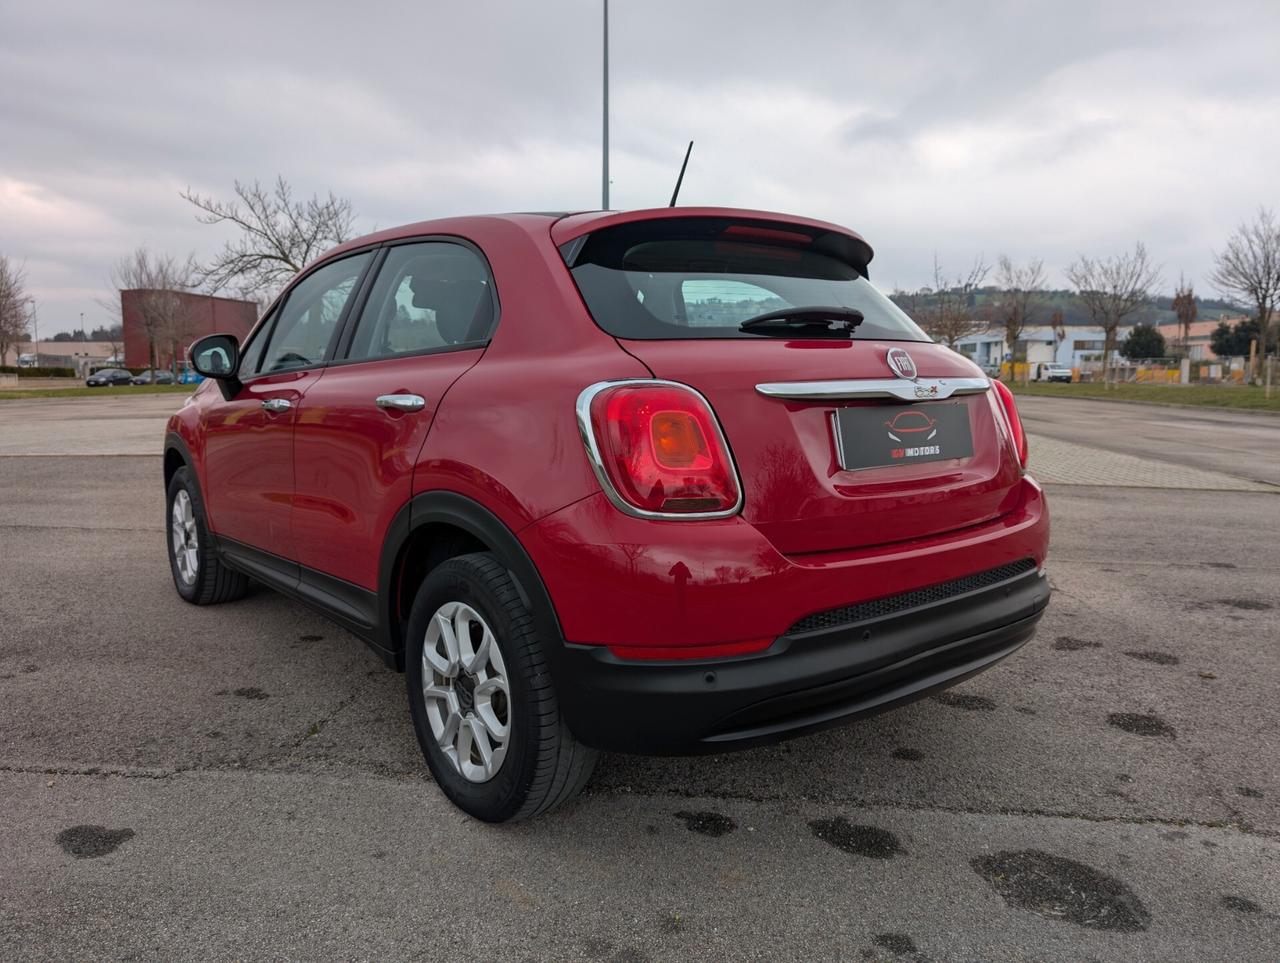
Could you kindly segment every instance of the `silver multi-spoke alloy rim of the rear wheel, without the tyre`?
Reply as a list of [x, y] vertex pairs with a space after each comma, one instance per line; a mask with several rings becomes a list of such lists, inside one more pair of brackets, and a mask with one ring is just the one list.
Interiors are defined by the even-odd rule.
[[462, 602], [431, 616], [422, 644], [422, 695], [431, 735], [468, 782], [502, 768], [511, 740], [511, 685], [493, 630]]

